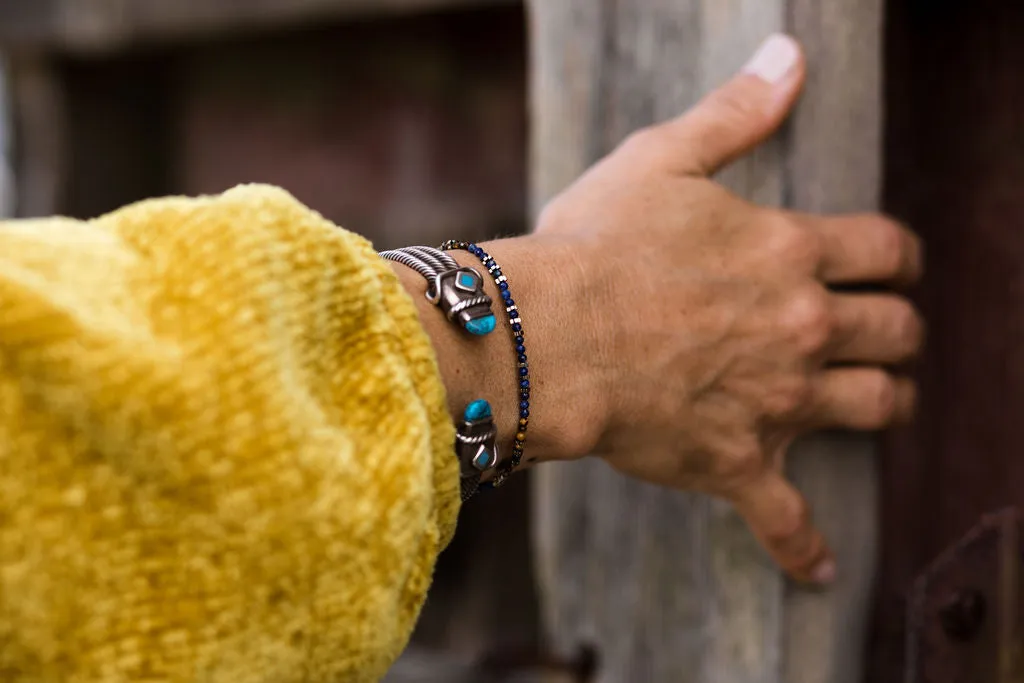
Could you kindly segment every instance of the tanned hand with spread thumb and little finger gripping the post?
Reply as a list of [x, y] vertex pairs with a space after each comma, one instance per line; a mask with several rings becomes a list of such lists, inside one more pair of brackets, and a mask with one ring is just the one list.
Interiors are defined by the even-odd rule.
[[[835, 562], [782, 475], [800, 434], [906, 418], [914, 387], [887, 367], [922, 322], [888, 293], [921, 272], [908, 230], [878, 215], [759, 207], [709, 176], [782, 122], [804, 79], [776, 38], [681, 118], [642, 130], [544, 211], [537, 233], [578, 259], [593, 308], [574, 373], [604, 395], [596, 453], [620, 471], [735, 504], [794, 578]], [[573, 266], [569, 266], [573, 267]], [[574, 270], [573, 270], [574, 271]]]

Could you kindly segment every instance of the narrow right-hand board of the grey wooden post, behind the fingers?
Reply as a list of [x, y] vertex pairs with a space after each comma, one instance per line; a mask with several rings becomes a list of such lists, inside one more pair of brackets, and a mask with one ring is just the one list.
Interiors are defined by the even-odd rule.
[[[786, 139], [786, 198], [804, 211], [876, 209], [882, 178], [883, 0], [790, 0], [788, 30], [810, 60]], [[791, 455], [791, 475], [836, 550], [823, 593], [788, 590], [785, 683], [860, 683], [878, 548], [872, 439], [820, 436]]]

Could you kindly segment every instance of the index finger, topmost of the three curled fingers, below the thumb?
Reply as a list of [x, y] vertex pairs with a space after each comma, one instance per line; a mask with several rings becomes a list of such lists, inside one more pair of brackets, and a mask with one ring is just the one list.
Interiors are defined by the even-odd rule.
[[819, 238], [818, 276], [825, 283], [909, 285], [921, 278], [921, 241], [894, 220], [879, 215], [793, 217]]

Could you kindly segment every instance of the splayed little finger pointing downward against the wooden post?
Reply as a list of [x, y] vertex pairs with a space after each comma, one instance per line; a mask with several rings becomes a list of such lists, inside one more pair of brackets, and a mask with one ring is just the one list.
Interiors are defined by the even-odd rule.
[[807, 501], [778, 472], [765, 470], [736, 492], [733, 503], [791, 577], [810, 584], [831, 583], [836, 562], [824, 537], [811, 521]]

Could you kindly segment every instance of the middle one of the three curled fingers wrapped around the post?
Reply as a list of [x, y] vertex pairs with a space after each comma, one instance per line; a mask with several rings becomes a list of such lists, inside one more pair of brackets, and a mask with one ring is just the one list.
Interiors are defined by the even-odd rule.
[[828, 359], [898, 364], [921, 350], [925, 325], [909, 301], [889, 294], [833, 294]]

